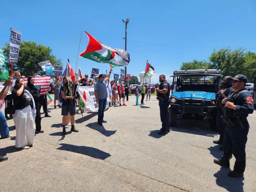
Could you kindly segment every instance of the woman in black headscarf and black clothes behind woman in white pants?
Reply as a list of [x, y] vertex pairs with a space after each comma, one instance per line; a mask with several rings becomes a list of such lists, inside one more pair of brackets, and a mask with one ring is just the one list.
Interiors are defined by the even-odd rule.
[[35, 132], [43, 133], [43, 130], [41, 129], [41, 113], [39, 109], [40, 95], [39, 95], [38, 89], [34, 86], [34, 83], [35, 83], [34, 77], [27, 78], [27, 86], [24, 89], [28, 90], [31, 93], [35, 101], [35, 109], [37, 110], [36, 116], [35, 116]]

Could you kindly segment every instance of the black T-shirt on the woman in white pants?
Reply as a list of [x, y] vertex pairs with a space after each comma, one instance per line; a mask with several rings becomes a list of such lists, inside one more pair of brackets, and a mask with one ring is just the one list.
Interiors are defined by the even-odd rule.
[[23, 93], [20, 96], [17, 96], [18, 90], [19, 89], [17, 88], [11, 91], [11, 95], [13, 96], [13, 104], [15, 105], [15, 103], [17, 103], [15, 109], [24, 109], [29, 105], [33, 108], [33, 101], [30, 95], [25, 90], [23, 90]]

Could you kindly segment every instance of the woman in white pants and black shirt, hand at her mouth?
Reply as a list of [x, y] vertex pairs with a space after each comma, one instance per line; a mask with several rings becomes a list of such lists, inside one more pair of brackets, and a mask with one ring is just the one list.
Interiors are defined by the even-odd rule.
[[31, 93], [24, 90], [25, 82], [17, 79], [11, 94], [16, 104], [13, 121], [16, 127], [15, 147], [29, 149], [34, 143], [35, 136], [35, 102]]

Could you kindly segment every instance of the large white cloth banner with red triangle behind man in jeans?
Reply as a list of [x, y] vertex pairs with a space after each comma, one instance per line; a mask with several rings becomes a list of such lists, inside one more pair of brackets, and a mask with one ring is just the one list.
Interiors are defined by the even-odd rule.
[[[85, 107], [81, 107], [85, 111], [89, 112], [98, 112], [99, 110], [99, 104], [96, 103], [96, 98], [94, 95], [94, 86], [79, 86], [78, 87], [78, 93], [80, 95], [80, 98], [83, 100], [83, 103], [85, 104]], [[107, 89], [107, 104], [106, 109], [109, 107], [110, 102], [110, 95], [109, 90]]]

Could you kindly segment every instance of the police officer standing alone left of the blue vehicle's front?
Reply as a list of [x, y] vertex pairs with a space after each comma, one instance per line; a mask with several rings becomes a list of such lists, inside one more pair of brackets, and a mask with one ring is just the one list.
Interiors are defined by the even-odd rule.
[[160, 107], [160, 118], [162, 122], [162, 129], [158, 132], [159, 135], [168, 134], [170, 132], [167, 129], [167, 116], [169, 107], [169, 96], [170, 96], [170, 84], [165, 80], [165, 75], [159, 76], [159, 81], [161, 82], [159, 87], [155, 90], [157, 91], [157, 100], [159, 101]]

